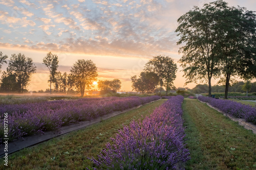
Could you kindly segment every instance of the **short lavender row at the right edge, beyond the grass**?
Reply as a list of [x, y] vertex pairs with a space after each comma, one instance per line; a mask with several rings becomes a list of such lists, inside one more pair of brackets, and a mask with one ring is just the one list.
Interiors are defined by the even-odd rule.
[[251, 107], [250, 105], [230, 100], [207, 98], [205, 96], [199, 96], [198, 100], [209, 103], [212, 107], [218, 108], [223, 113], [233, 117], [243, 118], [247, 122], [251, 122], [256, 125], [256, 108]]

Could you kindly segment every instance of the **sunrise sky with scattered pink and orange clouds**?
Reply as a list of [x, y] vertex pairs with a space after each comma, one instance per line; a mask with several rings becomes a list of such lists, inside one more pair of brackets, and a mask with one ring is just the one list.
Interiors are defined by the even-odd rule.
[[[176, 87], [184, 86], [178, 60], [177, 19], [207, 0], [74, 0], [0, 1], [0, 51], [9, 58], [22, 53], [37, 66], [29, 90], [49, 88], [47, 53], [58, 56], [58, 71], [70, 72], [78, 59], [91, 59], [98, 80], [120, 79], [121, 90], [131, 91], [131, 77], [139, 76], [153, 56], [164, 55], [178, 65]], [[226, 1], [229, 6], [256, 11], [256, 1]], [[8, 65], [4, 64], [2, 70]], [[198, 82], [200, 83], [200, 82]], [[212, 80], [216, 84], [217, 80]]]

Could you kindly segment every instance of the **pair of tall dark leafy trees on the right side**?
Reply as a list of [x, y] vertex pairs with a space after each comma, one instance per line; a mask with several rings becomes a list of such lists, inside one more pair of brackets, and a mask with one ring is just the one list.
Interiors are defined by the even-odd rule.
[[221, 78], [225, 83], [225, 99], [232, 78], [249, 81], [256, 77], [256, 14], [242, 7], [229, 7], [218, 0], [205, 4], [202, 9], [182, 15], [176, 29], [179, 60], [186, 84], [198, 80], [208, 82]]

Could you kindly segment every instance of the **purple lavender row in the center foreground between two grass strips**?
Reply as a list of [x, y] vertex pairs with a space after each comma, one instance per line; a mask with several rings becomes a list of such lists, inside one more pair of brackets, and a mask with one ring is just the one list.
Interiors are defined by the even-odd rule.
[[183, 99], [173, 96], [142, 122], [124, 126], [98, 160], [89, 159], [98, 169], [180, 169], [190, 159], [183, 143]]

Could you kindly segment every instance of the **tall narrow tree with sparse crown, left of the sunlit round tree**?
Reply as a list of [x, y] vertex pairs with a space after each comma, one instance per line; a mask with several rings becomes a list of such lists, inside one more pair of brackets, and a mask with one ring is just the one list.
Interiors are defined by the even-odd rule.
[[57, 74], [58, 68], [58, 56], [53, 55], [51, 52], [47, 53], [46, 57], [42, 60], [42, 64], [45, 64], [50, 71], [48, 82], [50, 82], [50, 94], [52, 92], [52, 83], [54, 82], [55, 75]]

